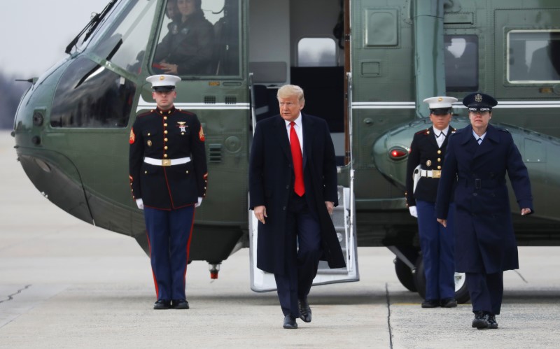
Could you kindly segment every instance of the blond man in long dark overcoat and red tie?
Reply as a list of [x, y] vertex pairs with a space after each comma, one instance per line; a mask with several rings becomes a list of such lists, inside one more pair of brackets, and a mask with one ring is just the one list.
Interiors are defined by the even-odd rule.
[[335, 148], [325, 120], [301, 113], [303, 90], [278, 90], [280, 115], [255, 127], [249, 207], [258, 219], [257, 266], [274, 273], [283, 327], [311, 321], [307, 295], [321, 257], [344, 267], [330, 219], [338, 204]]

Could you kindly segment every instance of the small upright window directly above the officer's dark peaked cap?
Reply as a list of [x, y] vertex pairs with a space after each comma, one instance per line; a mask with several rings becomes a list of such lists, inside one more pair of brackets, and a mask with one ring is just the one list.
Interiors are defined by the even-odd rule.
[[444, 35], [445, 87], [449, 92], [478, 90], [478, 37]]

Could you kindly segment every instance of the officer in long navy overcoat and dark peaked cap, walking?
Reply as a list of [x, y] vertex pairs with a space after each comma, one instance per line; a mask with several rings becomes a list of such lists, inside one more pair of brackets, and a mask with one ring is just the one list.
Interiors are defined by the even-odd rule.
[[503, 297], [503, 271], [519, 268], [505, 173], [521, 215], [534, 212], [528, 171], [507, 129], [489, 124], [498, 102], [476, 92], [463, 99], [470, 125], [449, 138], [437, 190], [435, 212], [447, 225], [447, 206], [454, 190], [456, 271], [466, 275], [472, 327], [498, 328]]

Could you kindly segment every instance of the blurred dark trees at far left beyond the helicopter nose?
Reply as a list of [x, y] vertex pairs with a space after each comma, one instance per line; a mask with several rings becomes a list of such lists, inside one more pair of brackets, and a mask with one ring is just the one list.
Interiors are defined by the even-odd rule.
[[31, 84], [15, 81], [13, 76], [0, 72], [0, 129], [13, 129], [13, 118], [23, 92]]

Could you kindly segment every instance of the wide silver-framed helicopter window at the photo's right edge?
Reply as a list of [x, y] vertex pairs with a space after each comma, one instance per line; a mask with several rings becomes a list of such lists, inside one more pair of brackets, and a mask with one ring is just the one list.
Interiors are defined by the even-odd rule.
[[[549, 35], [549, 38], [545, 38], [545, 35]], [[548, 41], [548, 43], [542, 45], [545, 41]], [[560, 83], [560, 66], [554, 67], [552, 57], [548, 57], [549, 59], [546, 60], [547, 57], [545, 57], [545, 55], [549, 55], [549, 51], [542, 50], [550, 47], [550, 43], [552, 41], [554, 41], [556, 45], [560, 45], [560, 29], [512, 29], [507, 31], [505, 49], [506, 82], [510, 85], [543, 85]], [[524, 45], [519, 47], [519, 44], [523, 43]], [[528, 46], [533, 46], [533, 48], [528, 48]], [[518, 50], [522, 50], [522, 53], [524, 54], [523, 58], [519, 58], [519, 55], [516, 55], [516, 48], [518, 47]], [[532, 50], [529, 52], [530, 49]], [[529, 55], [531, 55], [531, 57], [529, 57]], [[540, 55], [540, 57], [535, 57], [535, 55]], [[542, 62], [539, 61], [538, 65], [533, 65], [532, 61], [535, 58], [542, 58], [543, 60]], [[522, 64], [526, 66], [526, 71], [519, 71], [520, 64], [516, 64], [519, 59], [521, 59]], [[538, 71], [533, 69], [538, 69]], [[558, 76], [556, 80], [554, 80], [554, 75], [549, 75], [552, 79], [533, 78], [537, 73], [554, 74], [554, 70], [556, 70], [555, 73]]]

